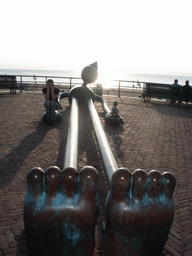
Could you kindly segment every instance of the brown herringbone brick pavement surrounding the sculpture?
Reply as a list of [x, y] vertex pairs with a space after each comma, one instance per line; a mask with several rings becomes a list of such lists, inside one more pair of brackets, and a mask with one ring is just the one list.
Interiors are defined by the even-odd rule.
[[[192, 107], [170, 106], [166, 101], [105, 97], [109, 108], [117, 100], [124, 126], [104, 122], [100, 103], [95, 103], [106, 136], [119, 167], [131, 172], [142, 168], [161, 173], [171, 171], [177, 180], [174, 192], [175, 217], [164, 255], [192, 255]], [[27, 256], [23, 204], [27, 173], [39, 166], [63, 168], [70, 106], [63, 99], [63, 121], [55, 126], [41, 122], [43, 96], [36, 92], [0, 93], [0, 256]], [[101, 223], [107, 194], [106, 181], [88, 112], [80, 109], [79, 167], [92, 165], [100, 176], [100, 216], [96, 227], [94, 255], [102, 255]]]

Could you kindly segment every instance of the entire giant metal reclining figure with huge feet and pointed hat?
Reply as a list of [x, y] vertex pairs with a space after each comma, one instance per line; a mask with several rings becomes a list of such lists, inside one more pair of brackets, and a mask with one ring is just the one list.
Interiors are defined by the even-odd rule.
[[168, 172], [161, 175], [158, 171], [147, 174], [136, 170], [131, 174], [118, 167], [94, 100], [102, 103], [106, 122], [119, 124], [123, 120], [116, 102], [111, 112], [105, 99], [86, 86], [97, 79], [97, 72], [96, 63], [85, 67], [83, 85], [60, 95], [60, 99], [68, 97], [71, 104], [63, 171], [50, 167], [44, 173], [33, 168], [28, 174], [24, 221], [31, 256], [93, 254], [99, 215], [98, 174], [90, 166], [77, 172], [78, 105], [84, 103], [90, 112], [110, 188], [105, 202], [104, 255], [160, 256], [167, 240], [174, 215], [175, 178]]

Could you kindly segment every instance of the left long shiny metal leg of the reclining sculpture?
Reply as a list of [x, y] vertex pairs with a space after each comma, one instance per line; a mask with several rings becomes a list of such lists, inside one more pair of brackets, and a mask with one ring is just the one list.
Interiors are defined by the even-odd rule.
[[77, 170], [78, 168], [78, 130], [78, 100], [72, 97], [64, 169], [73, 167]]

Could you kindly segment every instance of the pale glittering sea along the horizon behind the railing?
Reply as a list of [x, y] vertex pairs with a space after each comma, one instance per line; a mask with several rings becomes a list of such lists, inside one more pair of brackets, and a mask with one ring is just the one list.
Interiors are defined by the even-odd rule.
[[[17, 82], [22, 83], [45, 83], [45, 79], [53, 78], [55, 84], [62, 84], [66, 82], [67, 78], [79, 78], [81, 81], [81, 71], [78, 70], [37, 70], [37, 69], [0, 69], [0, 75], [15, 75], [17, 76]], [[103, 88], [113, 88], [119, 86], [119, 81], [122, 87], [143, 87], [146, 82], [172, 84], [174, 79], [178, 79], [180, 85], [184, 85], [186, 80], [189, 80], [189, 84], [192, 85], [191, 75], [173, 75], [173, 74], [140, 74], [129, 73], [126, 71], [117, 71], [107, 76], [103, 75], [98, 77], [98, 83], [103, 85]], [[77, 81], [77, 80], [76, 80]]]

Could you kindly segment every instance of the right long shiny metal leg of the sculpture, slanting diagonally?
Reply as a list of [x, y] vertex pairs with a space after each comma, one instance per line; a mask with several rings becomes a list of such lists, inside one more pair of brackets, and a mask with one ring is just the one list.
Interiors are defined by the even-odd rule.
[[112, 153], [111, 147], [101, 125], [99, 116], [97, 114], [92, 99], [88, 99], [88, 108], [91, 115], [95, 135], [97, 138], [99, 151], [103, 160], [107, 183], [110, 187], [112, 175], [118, 169], [118, 165]]

